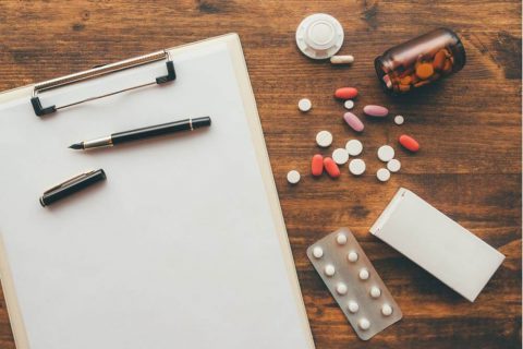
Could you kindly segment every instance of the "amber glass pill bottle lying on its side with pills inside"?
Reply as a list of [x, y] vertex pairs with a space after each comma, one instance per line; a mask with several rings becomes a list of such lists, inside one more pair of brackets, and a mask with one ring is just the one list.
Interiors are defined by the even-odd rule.
[[388, 49], [374, 65], [385, 89], [399, 95], [459, 72], [465, 61], [458, 35], [438, 28]]

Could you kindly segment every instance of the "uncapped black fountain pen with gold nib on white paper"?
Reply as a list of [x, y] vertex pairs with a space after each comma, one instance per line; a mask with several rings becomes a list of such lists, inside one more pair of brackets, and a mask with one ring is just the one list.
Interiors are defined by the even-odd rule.
[[122, 144], [132, 141], [138, 141], [149, 137], [155, 137], [158, 135], [170, 134], [180, 131], [193, 131], [194, 129], [203, 128], [203, 127], [210, 127], [210, 118], [195, 118], [195, 119], [185, 119], [174, 122], [168, 122], [162, 124], [156, 124], [153, 127], [131, 130], [131, 131], [123, 131], [113, 133], [111, 135], [75, 143], [70, 148], [73, 149], [93, 149], [106, 146], [113, 146], [117, 144]]

